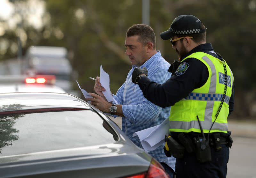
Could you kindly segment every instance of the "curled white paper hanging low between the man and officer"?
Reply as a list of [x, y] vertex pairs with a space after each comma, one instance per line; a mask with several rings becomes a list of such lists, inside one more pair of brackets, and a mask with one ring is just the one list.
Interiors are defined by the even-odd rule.
[[155, 150], [164, 143], [164, 136], [169, 133], [169, 118], [159, 125], [133, 133], [138, 136], [146, 152]]

